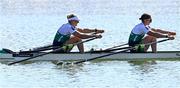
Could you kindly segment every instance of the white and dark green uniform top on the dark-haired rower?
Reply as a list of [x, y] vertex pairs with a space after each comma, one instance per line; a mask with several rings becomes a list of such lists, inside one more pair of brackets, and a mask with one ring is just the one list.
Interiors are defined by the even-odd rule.
[[141, 44], [145, 34], [147, 34], [150, 29], [151, 29], [150, 26], [145, 26], [143, 23], [136, 25], [132, 29], [131, 34], [129, 36], [129, 41], [128, 41], [129, 46], [135, 46], [137, 44]]

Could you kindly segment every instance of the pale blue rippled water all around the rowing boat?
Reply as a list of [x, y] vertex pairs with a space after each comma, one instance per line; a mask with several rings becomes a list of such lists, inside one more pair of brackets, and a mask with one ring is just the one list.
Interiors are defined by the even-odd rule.
[[[51, 44], [69, 13], [80, 18], [78, 27], [105, 30], [102, 39], [85, 43], [85, 50], [123, 44], [146, 12], [153, 17], [152, 27], [177, 33], [175, 40], [158, 44], [158, 50], [180, 50], [179, 0], [0, 0], [0, 12], [0, 49]], [[178, 88], [179, 65], [179, 61], [137, 65], [102, 61], [64, 68], [51, 62], [0, 64], [0, 88]]]

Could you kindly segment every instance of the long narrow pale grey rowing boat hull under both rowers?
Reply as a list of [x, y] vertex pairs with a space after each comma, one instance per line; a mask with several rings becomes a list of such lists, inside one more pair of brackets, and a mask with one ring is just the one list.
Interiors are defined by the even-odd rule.
[[[45, 52], [39, 53], [0, 53], [0, 62], [3, 61], [19, 61], [23, 60], [32, 56], [36, 56]], [[31, 59], [30, 61], [65, 61], [65, 60], [85, 60], [88, 58], [98, 57], [106, 54], [110, 54], [112, 52], [97, 52], [97, 53], [78, 53], [78, 52], [71, 52], [71, 53], [51, 53], [41, 57], [37, 57]], [[99, 59], [107, 59], [107, 60], [153, 60], [153, 59], [177, 59], [180, 60], [180, 51], [159, 51], [157, 53], [130, 53], [124, 52], [119, 53], [111, 56], [107, 56], [104, 58]]]

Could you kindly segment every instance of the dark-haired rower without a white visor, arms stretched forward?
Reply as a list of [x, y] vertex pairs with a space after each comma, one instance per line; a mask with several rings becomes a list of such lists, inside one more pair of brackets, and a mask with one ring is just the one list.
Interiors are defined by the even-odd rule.
[[[152, 48], [152, 52], [157, 52], [157, 44], [151, 45], [138, 45], [155, 42], [157, 38], [169, 38], [170, 40], [174, 39], [176, 35], [175, 32], [165, 31], [162, 29], [151, 28], [149, 25], [152, 22], [151, 15], [144, 13], [141, 18], [141, 23], [137, 24], [131, 31], [129, 36], [128, 44], [129, 46], [136, 46], [135, 50], [131, 52], [147, 52], [149, 46]], [[146, 35], [146, 36], [145, 36]]]

